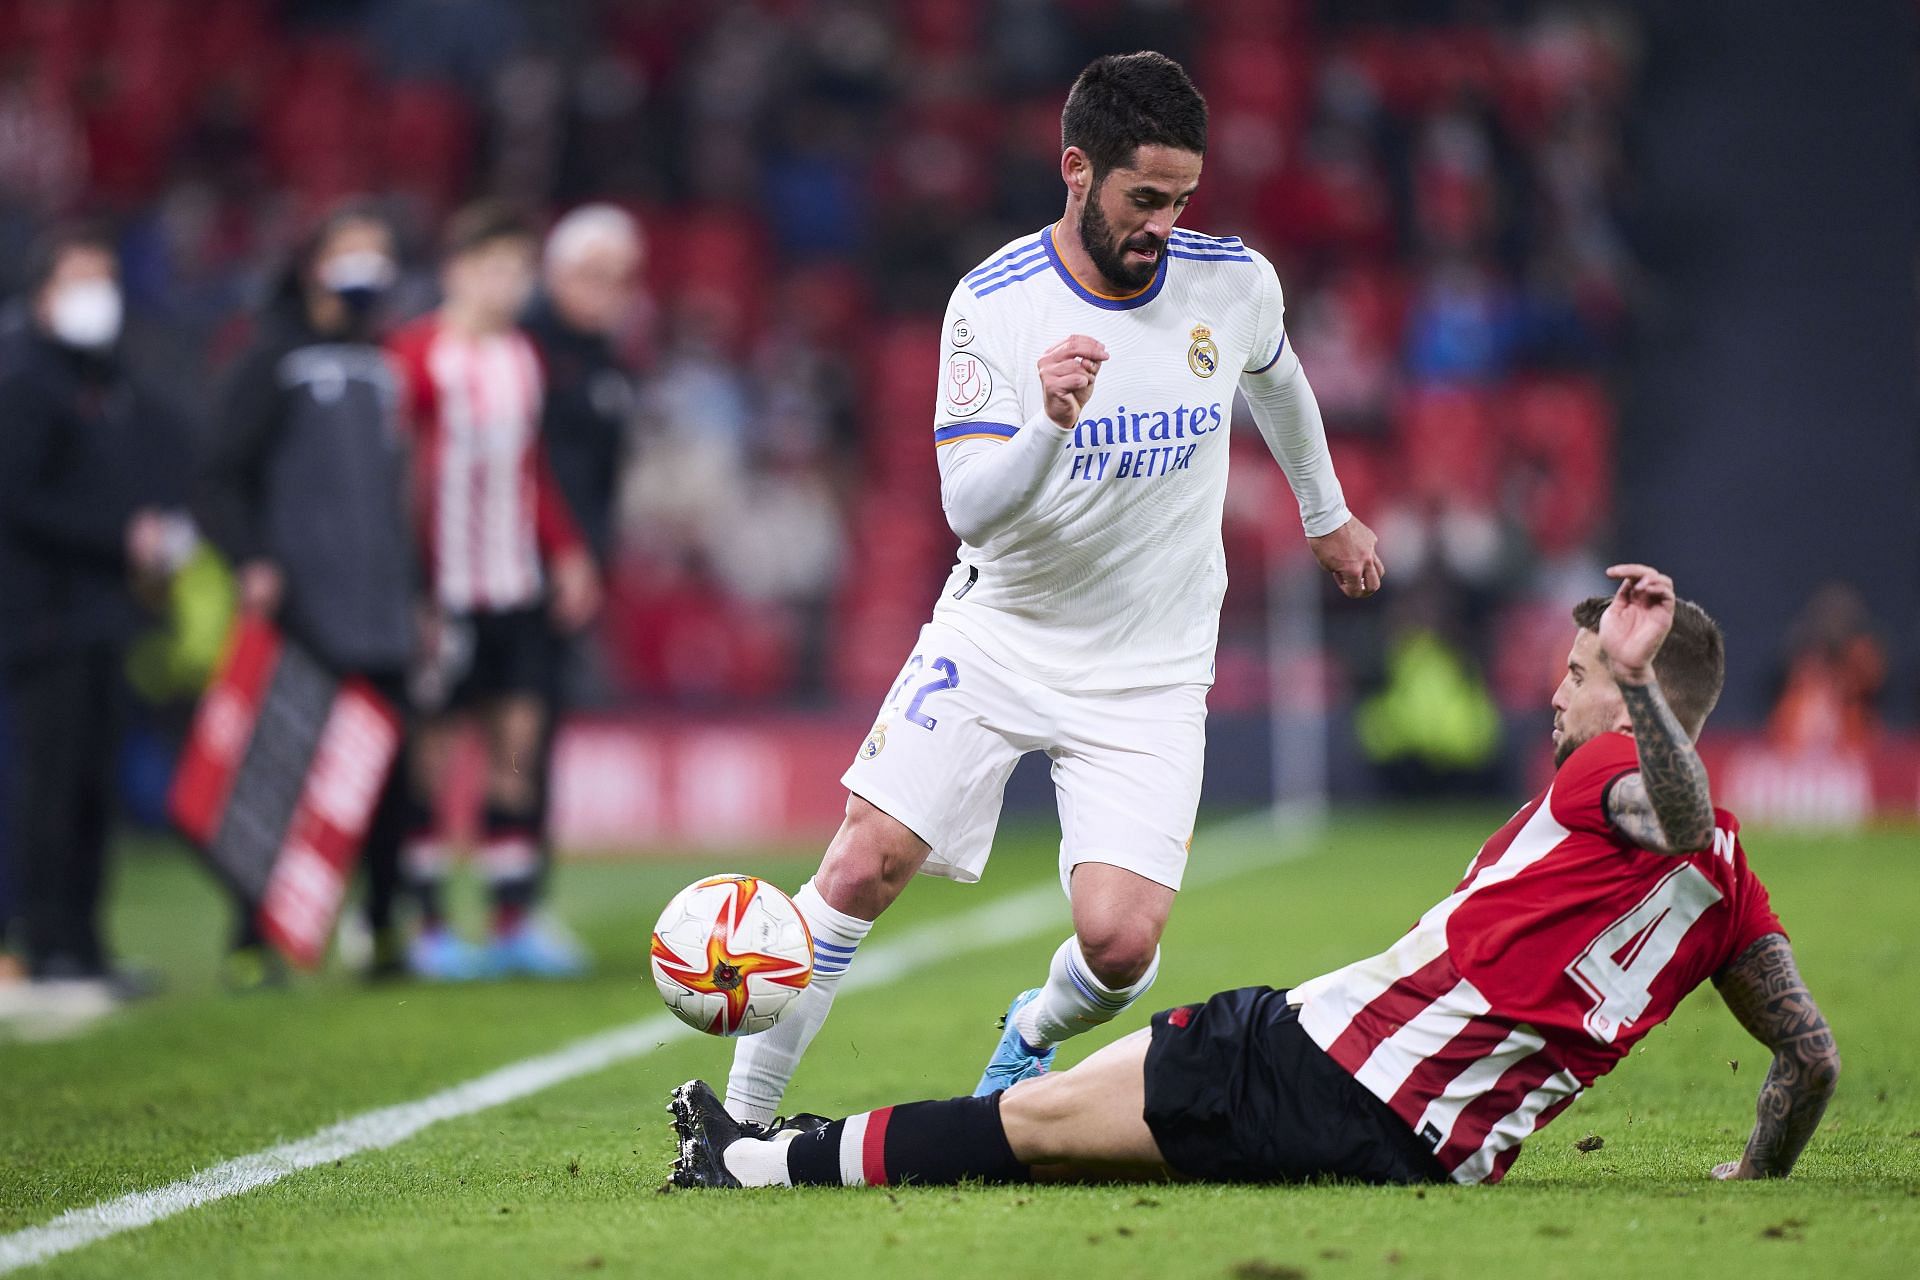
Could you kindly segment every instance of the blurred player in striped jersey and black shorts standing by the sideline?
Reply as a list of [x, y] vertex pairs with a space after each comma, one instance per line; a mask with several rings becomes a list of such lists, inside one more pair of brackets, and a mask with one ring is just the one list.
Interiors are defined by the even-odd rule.
[[[415, 683], [424, 712], [413, 743], [415, 825], [403, 867], [420, 900], [413, 971], [436, 981], [586, 967], [580, 946], [534, 913], [540, 892], [540, 758], [547, 733], [553, 629], [599, 612], [599, 574], [541, 445], [545, 378], [515, 319], [534, 286], [536, 240], [515, 211], [486, 201], [447, 230], [445, 301], [394, 336], [415, 438], [417, 518], [438, 614]], [[478, 862], [493, 906], [490, 946], [449, 927], [449, 864], [434, 802], [463, 722], [486, 737]]]

